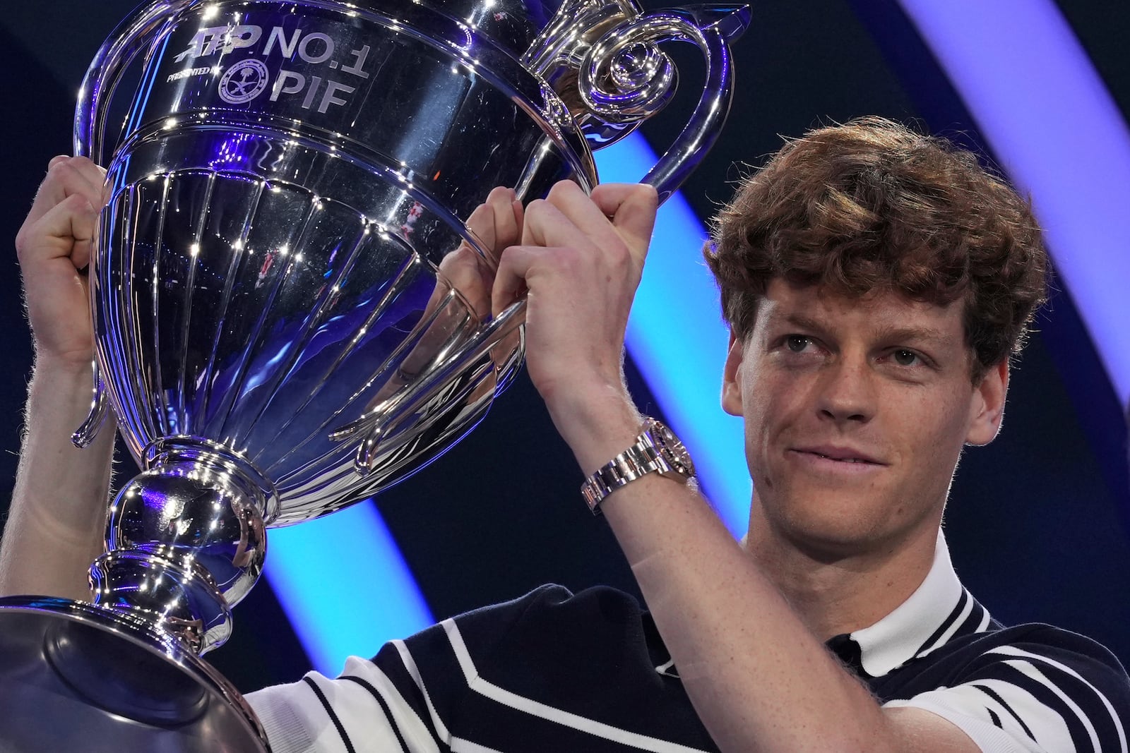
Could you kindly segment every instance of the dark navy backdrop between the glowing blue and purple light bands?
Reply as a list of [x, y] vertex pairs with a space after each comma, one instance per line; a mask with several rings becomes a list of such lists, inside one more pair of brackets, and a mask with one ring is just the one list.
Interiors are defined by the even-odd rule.
[[[3, 488], [10, 489], [15, 474], [32, 362], [9, 239], [47, 160], [70, 151], [82, 71], [132, 5], [40, 0], [7, 3], [0, 14], [6, 169], [0, 238], [9, 253], [0, 262]], [[1124, 46], [1130, 6], [1105, 0], [1059, 5], [1123, 114], [1130, 112]], [[960, 99], [893, 0], [757, 3], [734, 59], [738, 96], [729, 123], [684, 186], [702, 217], [729, 199], [742, 172], [736, 164], [757, 164], [781, 145], [781, 134], [798, 135], [814, 125], [881, 114], [981, 143]], [[693, 90], [696, 67], [687, 62], [685, 68], [684, 88]], [[686, 110], [677, 103], [645, 134], [654, 143], [669, 142]], [[1063, 161], [1069, 169], [1069, 160]], [[1130, 480], [1122, 411], [1067, 291], [1055, 295], [1038, 326], [1014, 373], [1005, 431], [962, 463], [947, 536], [958, 572], [994, 616], [1085, 632], [1127, 663]], [[120, 479], [127, 474], [122, 467]], [[523, 376], [469, 439], [386, 492], [379, 505], [437, 619], [546, 581], [574, 589], [608, 583], [633, 590], [607, 526], [584, 509], [580, 481], [571, 453]], [[235, 637], [209, 658], [237, 686], [294, 680], [308, 667], [266, 583], [236, 614]]]

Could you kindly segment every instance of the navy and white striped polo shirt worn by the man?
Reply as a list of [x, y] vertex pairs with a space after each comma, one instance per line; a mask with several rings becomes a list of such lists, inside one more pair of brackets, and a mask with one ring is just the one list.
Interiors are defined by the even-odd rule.
[[[827, 645], [879, 702], [945, 717], [983, 751], [1130, 753], [1118, 659], [1050, 625], [1002, 627], [941, 536], [910, 598]], [[718, 750], [651, 616], [606, 587], [544, 586], [247, 700], [272, 753]]]

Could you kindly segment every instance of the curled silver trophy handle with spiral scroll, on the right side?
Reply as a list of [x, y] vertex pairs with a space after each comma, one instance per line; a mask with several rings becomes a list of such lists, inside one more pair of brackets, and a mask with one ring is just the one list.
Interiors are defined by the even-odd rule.
[[[605, 34], [581, 64], [577, 85], [585, 106], [609, 124], [629, 123], [658, 112], [673, 93], [670, 60], [654, 45], [690, 42], [702, 50], [707, 70], [698, 106], [671, 147], [641, 181], [655, 186], [661, 203], [683, 184], [718, 139], [733, 98], [729, 42], [748, 26], [749, 7], [745, 5], [661, 10]], [[606, 81], [610, 88], [605, 88]], [[621, 135], [629, 130], [625, 129]]]

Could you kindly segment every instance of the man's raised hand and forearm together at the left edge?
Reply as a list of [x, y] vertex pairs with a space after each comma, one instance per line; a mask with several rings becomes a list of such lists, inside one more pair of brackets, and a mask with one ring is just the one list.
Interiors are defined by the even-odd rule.
[[16, 237], [35, 373], [0, 541], [0, 595], [89, 598], [87, 568], [103, 549], [114, 431], [104, 426], [85, 449], [70, 436], [90, 408], [94, 330], [84, 272], [106, 201], [104, 175], [86, 158], [52, 159]]

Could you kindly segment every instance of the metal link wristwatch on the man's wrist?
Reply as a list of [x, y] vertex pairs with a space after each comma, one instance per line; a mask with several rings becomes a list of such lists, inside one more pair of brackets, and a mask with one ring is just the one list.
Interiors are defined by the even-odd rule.
[[581, 494], [592, 514], [599, 515], [605, 497], [649, 473], [660, 473], [684, 483], [695, 475], [695, 464], [687, 448], [675, 432], [653, 418], [644, 418], [634, 445], [584, 480]]

